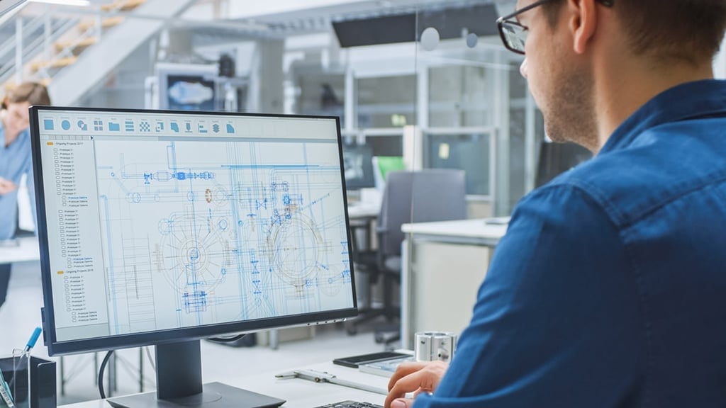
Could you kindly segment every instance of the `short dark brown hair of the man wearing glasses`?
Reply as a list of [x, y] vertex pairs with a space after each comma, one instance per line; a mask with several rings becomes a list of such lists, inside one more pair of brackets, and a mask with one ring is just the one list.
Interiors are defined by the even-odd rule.
[[[544, 4], [552, 25], [564, 0]], [[726, 30], [726, 0], [614, 0], [613, 11], [636, 54], [698, 64], [719, 51]]]

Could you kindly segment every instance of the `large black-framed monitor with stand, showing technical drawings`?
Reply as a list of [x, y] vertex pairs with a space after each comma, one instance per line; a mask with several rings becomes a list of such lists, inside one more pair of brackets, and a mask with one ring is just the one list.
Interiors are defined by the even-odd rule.
[[200, 339], [356, 315], [338, 118], [32, 107], [30, 122], [49, 354], [156, 346], [157, 393], [114, 407], [278, 406], [202, 393]]

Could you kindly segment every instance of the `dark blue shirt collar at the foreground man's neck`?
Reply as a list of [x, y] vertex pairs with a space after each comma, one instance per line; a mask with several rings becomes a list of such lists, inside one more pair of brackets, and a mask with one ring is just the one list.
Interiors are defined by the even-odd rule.
[[649, 128], [714, 115], [726, 115], [726, 81], [682, 83], [661, 92], [630, 115], [605, 142], [600, 154], [628, 147]]

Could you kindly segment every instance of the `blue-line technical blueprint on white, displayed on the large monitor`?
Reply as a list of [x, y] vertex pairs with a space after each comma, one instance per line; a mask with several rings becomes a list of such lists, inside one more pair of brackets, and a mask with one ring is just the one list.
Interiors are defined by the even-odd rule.
[[352, 307], [337, 159], [335, 142], [97, 141], [111, 334]]

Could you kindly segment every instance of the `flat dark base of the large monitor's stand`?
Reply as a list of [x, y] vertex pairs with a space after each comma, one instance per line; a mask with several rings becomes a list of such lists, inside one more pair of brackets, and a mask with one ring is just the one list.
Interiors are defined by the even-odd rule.
[[222, 383], [204, 384], [203, 393], [179, 399], [158, 399], [155, 392], [150, 392], [107, 401], [113, 408], [276, 408], [285, 404], [285, 400]]

